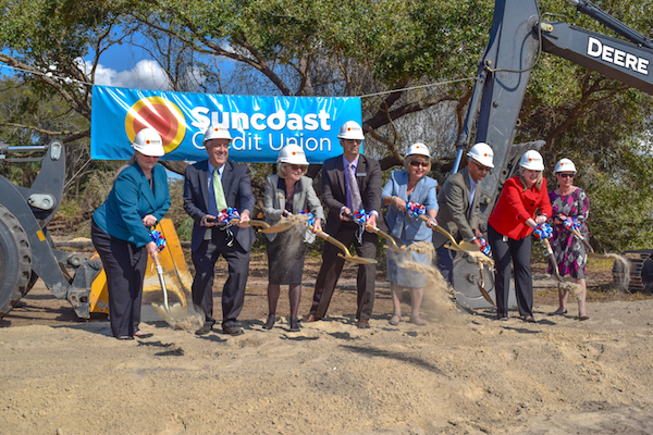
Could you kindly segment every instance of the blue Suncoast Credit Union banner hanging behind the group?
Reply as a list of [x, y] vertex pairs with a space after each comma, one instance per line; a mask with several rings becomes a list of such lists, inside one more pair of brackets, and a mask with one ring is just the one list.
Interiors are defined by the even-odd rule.
[[126, 160], [131, 144], [145, 128], [163, 138], [162, 160], [199, 161], [211, 124], [229, 128], [234, 138], [229, 157], [239, 162], [276, 162], [279, 150], [298, 145], [310, 163], [322, 163], [343, 149], [341, 125], [361, 123], [360, 98], [252, 97], [187, 94], [94, 86], [90, 156]]

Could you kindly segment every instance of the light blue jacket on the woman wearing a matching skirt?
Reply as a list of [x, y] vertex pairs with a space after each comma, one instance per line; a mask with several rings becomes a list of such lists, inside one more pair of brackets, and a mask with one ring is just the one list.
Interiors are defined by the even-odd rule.
[[[426, 207], [427, 211], [438, 210], [438, 182], [431, 177], [423, 176], [417, 182], [410, 197], [406, 194], [408, 189], [408, 173], [406, 171], [394, 171], [390, 174], [390, 179], [383, 187], [381, 198], [395, 196], [406, 202], [417, 202]], [[404, 241], [411, 244], [415, 241], [431, 241], [433, 231], [427, 226], [427, 223], [412, 213], [401, 212], [394, 207], [390, 207], [385, 216], [390, 234]]]

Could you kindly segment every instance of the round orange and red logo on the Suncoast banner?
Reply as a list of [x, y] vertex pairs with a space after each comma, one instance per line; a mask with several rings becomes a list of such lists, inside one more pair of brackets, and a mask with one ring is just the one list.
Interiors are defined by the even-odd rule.
[[186, 135], [186, 120], [180, 108], [161, 97], [141, 98], [132, 105], [125, 117], [125, 132], [130, 141], [143, 128], [151, 127], [163, 139], [165, 153], [174, 151]]

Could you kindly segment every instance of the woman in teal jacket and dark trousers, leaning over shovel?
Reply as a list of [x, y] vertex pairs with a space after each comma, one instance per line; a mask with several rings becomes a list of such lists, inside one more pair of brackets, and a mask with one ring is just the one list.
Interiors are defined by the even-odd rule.
[[170, 208], [165, 170], [157, 164], [165, 153], [161, 136], [153, 128], [144, 128], [132, 147], [134, 156], [119, 171], [109, 197], [93, 214], [90, 227], [107, 273], [111, 332], [119, 339], [149, 336], [138, 330], [147, 256], [157, 251], [149, 228]]

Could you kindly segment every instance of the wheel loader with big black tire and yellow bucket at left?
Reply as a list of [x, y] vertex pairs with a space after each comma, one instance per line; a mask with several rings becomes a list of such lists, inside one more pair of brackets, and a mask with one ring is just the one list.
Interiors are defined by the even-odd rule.
[[[45, 151], [45, 156], [9, 157], [35, 151]], [[38, 278], [57, 298], [67, 300], [81, 319], [89, 319], [91, 312], [109, 313], [107, 276], [97, 253], [57, 249], [47, 231], [63, 195], [63, 145], [53, 141], [45, 146], [11, 147], [0, 141], [0, 164], [39, 160], [41, 169], [30, 187], [17, 186], [0, 176], [0, 319]], [[151, 258], [148, 260], [143, 303], [156, 306], [159, 302], [167, 313], [170, 313], [169, 306], [176, 308], [177, 314], [181, 310], [187, 312], [193, 277], [174, 225], [163, 219], [156, 229], [165, 237], [167, 247], [159, 253], [160, 269], [152, 264]]]

